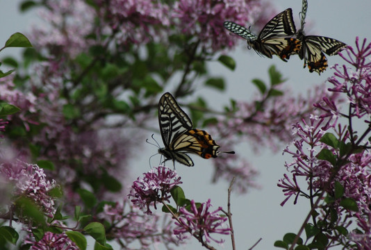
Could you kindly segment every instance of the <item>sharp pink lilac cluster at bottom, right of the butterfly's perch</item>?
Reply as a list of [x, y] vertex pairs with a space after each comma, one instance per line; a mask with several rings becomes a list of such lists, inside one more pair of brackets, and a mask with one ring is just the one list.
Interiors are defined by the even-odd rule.
[[190, 233], [195, 235], [197, 238], [204, 238], [207, 243], [213, 240], [217, 243], [222, 243], [224, 240], [215, 240], [211, 237], [211, 233], [217, 233], [222, 235], [229, 235], [231, 228], [225, 226], [228, 217], [222, 217], [220, 215], [221, 207], [214, 211], [211, 209], [211, 200], [201, 203], [200, 206], [196, 206], [195, 201], [190, 201], [190, 210], [186, 208], [179, 208], [179, 221], [175, 222], [176, 228], [174, 233], [179, 235], [181, 239], [183, 234]]

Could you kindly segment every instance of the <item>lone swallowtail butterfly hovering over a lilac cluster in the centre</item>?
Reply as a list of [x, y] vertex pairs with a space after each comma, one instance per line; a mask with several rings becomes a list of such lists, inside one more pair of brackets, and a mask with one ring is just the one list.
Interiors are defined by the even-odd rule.
[[[220, 146], [206, 131], [192, 128], [190, 117], [181, 109], [169, 92], [163, 94], [158, 101], [158, 123], [164, 148], [158, 153], [165, 156], [165, 160], [173, 160], [192, 167], [195, 164], [186, 153], [197, 153], [202, 158], [216, 158]], [[234, 151], [224, 152], [234, 153]]]

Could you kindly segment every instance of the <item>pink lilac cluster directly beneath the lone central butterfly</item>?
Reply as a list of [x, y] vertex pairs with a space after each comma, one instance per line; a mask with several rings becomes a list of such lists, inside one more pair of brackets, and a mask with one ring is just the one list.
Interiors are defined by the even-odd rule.
[[151, 214], [149, 206], [153, 205], [156, 209], [156, 201], [170, 202], [170, 190], [174, 186], [181, 184], [181, 177], [175, 171], [164, 166], [158, 166], [144, 173], [144, 177], [133, 182], [130, 194], [131, 202], [144, 210], [146, 214]]

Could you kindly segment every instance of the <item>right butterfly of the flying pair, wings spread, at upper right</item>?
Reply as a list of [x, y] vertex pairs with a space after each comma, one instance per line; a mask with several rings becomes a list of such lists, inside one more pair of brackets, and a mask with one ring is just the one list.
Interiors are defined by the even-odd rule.
[[307, 0], [303, 0], [301, 12], [301, 26], [297, 31], [297, 39], [302, 42], [302, 49], [299, 51], [299, 58], [304, 59], [304, 67], [308, 64], [309, 72], [318, 72], [321, 74], [329, 66], [324, 53], [329, 56], [337, 55], [347, 44], [333, 38], [327, 38], [318, 35], [305, 35], [304, 24], [306, 10], [308, 8]]

